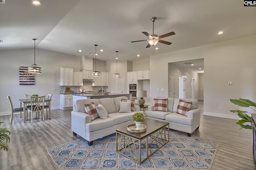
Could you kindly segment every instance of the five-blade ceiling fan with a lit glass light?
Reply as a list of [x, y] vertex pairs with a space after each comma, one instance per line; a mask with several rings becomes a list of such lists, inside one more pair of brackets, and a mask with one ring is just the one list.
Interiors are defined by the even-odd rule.
[[146, 36], [148, 37], [148, 39], [139, 40], [139, 41], [131, 41], [131, 43], [140, 42], [140, 41], [148, 41], [148, 45], [147, 45], [146, 48], [150, 47], [151, 45], [152, 45], [152, 46], [156, 45], [157, 42], [170, 45], [170, 44], [171, 44], [170, 42], [164, 41], [164, 40], [162, 40], [161, 38], [174, 35], [175, 33], [174, 33], [174, 32], [170, 32], [170, 33], [166, 33], [166, 34], [160, 35], [160, 36], [154, 34], [154, 22], [155, 22], [155, 20], [156, 20], [156, 17], [151, 17], [150, 19], [151, 19], [151, 21], [153, 22], [153, 34], [150, 35], [150, 34], [147, 33], [147, 32], [142, 32], [144, 35], [146, 35]]

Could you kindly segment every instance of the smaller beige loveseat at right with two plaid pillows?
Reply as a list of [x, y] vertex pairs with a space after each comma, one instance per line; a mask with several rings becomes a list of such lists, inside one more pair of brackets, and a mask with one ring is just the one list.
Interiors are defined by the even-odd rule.
[[[163, 99], [163, 97], [157, 97], [157, 99]], [[176, 113], [179, 100], [179, 98], [168, 98], [168, 111], [154, 111], [154, 105], [148, 106], [146, 117], [147, 119], [167, 121], [169, 122], [170, 129], [186, 132], [190, 137], [191, 133], [200, 126], [200, 109], [198, 109], [198, 100], [182, 99], [187, 102], [192, 102], [191, 110], [188, 111], [187, 116]]]

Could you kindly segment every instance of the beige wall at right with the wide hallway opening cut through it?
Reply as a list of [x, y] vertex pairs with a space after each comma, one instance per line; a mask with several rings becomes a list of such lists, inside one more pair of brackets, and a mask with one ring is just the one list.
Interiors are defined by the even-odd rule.
[[[229, 111], [239, 109], [230, 99], [256, 101], [255, 47], [256, 35], [252, 35], [150, 56], [151, 101], [156, 96], [168, 97], [168, 63], [204, 58], [204, 114], [238, 118]], [[228, 81], [232, 81], [231, 86]]]

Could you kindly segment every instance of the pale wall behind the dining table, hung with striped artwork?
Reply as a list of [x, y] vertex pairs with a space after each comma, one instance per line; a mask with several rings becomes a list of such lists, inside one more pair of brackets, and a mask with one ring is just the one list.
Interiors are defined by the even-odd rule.
[[[18, 99], [24, 99], [25, 94], [53, 94], [51, 107], [60, 107], [60, 72], [59, 67], [71, 67], [80, 71], [81, 57], [36, 49], [36, 64], [42, 68], [41, 74], [36, 74], [36, 85], [19, 85], [19, 66], [34, 64], [34, 49], [0, 51], [0, 115], [10, 113], [7, 96], [10, 95], [14, 107], [20, 107]], [[55, 88], [55, 91], [52, 91]]]

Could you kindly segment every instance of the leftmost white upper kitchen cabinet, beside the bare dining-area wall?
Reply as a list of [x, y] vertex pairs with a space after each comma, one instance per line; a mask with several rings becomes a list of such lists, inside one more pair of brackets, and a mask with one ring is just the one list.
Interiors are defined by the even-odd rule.
[[73, 86], [73, 68], [60, 67], [60, 86]]

